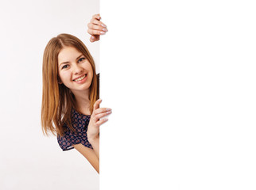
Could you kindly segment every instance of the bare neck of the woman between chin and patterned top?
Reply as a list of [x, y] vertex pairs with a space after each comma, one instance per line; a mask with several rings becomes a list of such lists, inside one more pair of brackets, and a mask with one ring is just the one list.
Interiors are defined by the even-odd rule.
[[72, 92], [76, 97], [76, 106], [80, 112], [84, 115], [91, 115], [90, 105], [91, 101], [89, 99], [89, 89], [83, 92]]

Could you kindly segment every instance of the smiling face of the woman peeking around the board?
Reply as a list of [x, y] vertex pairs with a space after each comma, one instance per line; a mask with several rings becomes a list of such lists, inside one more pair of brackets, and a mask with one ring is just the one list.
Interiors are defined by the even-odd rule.
[[88, 91], [93, 70], [88, 59], [75, 47], [64, 47], [58, 55], [60, 81], [76, 94]]

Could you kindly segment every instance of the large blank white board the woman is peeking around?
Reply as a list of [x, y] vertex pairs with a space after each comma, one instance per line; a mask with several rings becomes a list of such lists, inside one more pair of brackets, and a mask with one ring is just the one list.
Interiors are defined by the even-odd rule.
[[256, 189], [255, 9], [100, 2], [101, 190]]

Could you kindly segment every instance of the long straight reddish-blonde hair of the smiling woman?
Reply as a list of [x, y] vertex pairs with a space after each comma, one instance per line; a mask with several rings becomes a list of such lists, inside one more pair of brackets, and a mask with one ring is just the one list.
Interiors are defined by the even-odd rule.
[[45, 47], [43, 57], [43, 96], [41, 106], [41, 126], [45, 135], [64, 135], [64, 124], [72, 127], [71, 111], [76, 107], [76, 98], [71, 90], [58, 83], [58, 55], [63, 47], [75, 47], [91, 63], [93, 78], [90, 86], [90, 110], [99, 98], [99, 84], [95, 72], [95, 63], [83, 42], [76, 36], [60, 34], [53, 37]]

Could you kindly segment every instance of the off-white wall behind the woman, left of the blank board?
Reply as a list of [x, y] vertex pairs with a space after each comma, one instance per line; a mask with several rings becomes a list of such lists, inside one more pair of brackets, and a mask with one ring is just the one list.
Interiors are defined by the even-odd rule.
[[99, 175], [76, 150], [41, 131], [42, 57], [59, 33], [79, 37], [99, 63], [87, 23], [99, 1], [0, 2], [0, 189], [99, 189]]

